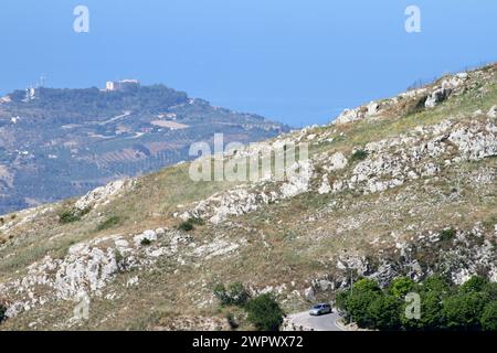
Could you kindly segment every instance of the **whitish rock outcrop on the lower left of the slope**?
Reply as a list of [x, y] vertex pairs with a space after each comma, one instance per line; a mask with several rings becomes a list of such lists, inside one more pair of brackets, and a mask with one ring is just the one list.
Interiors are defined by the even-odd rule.
[[[144, 239], [150, 243], [145, 244]], [[188, 259], [207, 261], [244, 245], [221, 238], [195, 248], [188, 247], [190, 244], [189, 235], [162, 227], [130, 237], [110, 235], [82, 242], [71, 246], [65, 257], [45, 256], [29, 266], [21, 279], [0, 284], [0, 297], [9, 303], [9, 318], [56, 300], [77, 302], [81, 298], [104, 296], [112, 300], [116, 293], [106, 293], [106, 287], [120, 272], [152, 268], [163, 257], [179, 265], [184, 265]], [[139, 277], [134, 277], [125, 287], [138, 282]]]

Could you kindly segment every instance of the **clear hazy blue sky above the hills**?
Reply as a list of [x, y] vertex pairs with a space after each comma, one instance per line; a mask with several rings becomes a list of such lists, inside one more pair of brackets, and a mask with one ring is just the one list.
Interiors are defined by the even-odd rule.
[[[89, 8], [89, 33], [73, 9]], [[422, 32], [404, 31], [404, 10]], [[2, 0], [0, 94], [163, 83], [294, 126], [497, 61], [495, 0]]]

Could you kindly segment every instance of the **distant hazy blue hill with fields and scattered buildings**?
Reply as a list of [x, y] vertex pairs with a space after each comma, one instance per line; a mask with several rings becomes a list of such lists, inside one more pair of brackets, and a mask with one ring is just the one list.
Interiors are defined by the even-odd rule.
[[0, 98], [0, 214], [188, 160], [214, 132], [246, 143], [287, 130], [161, 85], [15, 90]]

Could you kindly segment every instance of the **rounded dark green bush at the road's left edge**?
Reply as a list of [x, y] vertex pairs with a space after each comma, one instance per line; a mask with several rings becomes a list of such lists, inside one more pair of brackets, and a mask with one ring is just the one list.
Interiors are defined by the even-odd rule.
[[278, 331], [284, 312], [271, 293], [261, 295], [247, 301], [247, 320], [258, 331]]

